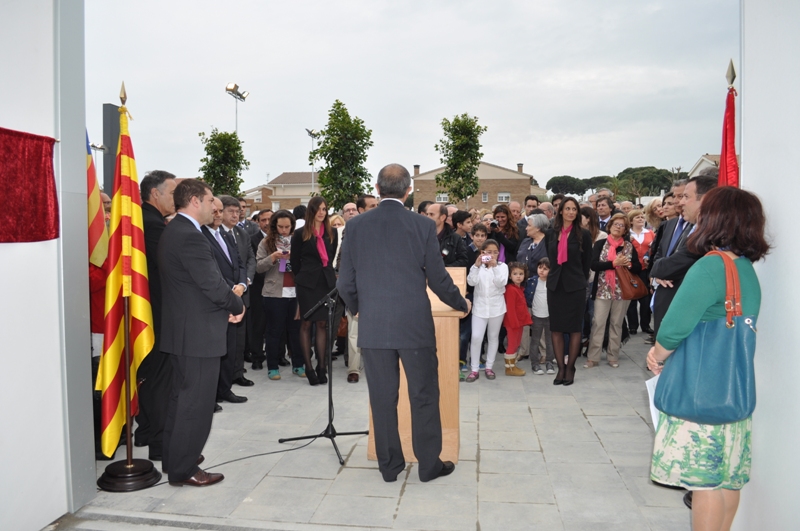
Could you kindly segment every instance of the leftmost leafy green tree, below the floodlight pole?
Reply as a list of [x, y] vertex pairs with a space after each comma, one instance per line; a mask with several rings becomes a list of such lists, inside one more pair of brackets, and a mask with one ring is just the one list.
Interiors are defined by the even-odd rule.
[[203, 143], [206, 156], [200, 159], [203, 165], [200, 173], [203, 181], [214, 191], [214, 195], [227, 194], [237, 197], [241, 195], [242, 171], [250, 167], [244, 158], [242, 142], [239, 135], [211, 129], [211, 134], [198, 133]]

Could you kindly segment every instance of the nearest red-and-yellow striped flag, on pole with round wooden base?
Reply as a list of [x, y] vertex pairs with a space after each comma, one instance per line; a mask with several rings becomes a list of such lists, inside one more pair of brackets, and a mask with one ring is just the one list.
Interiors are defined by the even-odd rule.
[[[124, 102], [123, 102], [124, 103]], [[112, 456], [125, 425], [125, 312], [130, 307], [131, 416], [138, 411], [136, 371], [153, 347], [153, 313], [147, 283], [142, 201], [133, 145], [128, 134], [128, 111], [119, 108], [119, 145], [111, 199], [111, 225], [106, 281], [103, 356], [95, 389], [103, 392], [100, 424], [103, 453]]]

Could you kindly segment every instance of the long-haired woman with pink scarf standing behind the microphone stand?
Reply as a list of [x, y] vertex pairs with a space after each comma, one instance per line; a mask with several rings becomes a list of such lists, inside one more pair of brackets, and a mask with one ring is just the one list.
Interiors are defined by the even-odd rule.
[[[320, 306], [308, 319], [303, 316], [336, 287], [333, 256], [338, 234], [328, 219], [328, 203], [323, 197], [312, 197], [306, 210], [305, 225], [292, 236], [291, 266], [297, 291], [300, 321], [300, 347], [306, 362], [306, 377], [310, 385], [328, 383], [325, 364], [328, 309]], [[317, 328], [315, 352], [316, 372], [311, 366], [311, 325]]]

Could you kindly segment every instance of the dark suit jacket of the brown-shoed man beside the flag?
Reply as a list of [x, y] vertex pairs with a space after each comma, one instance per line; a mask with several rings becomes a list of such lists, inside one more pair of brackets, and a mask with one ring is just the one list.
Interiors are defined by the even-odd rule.
[[178, 214], [161, 236], [158, 266], [163, 295], [161, 351], [224, 356], [228, 314], [242, 313], [243, 303], [222, 277], [208, 238]]

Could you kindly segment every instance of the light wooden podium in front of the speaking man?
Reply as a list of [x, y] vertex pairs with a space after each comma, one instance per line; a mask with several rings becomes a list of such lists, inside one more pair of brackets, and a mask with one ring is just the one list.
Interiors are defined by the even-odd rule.
[[[448, 267], [447, 272], [458, 286], [461, 295], [467, 291], [467, 270], [463, 267]], [[461, 312], [447, 306], [428, 288], [431, 300], [433, 324], [436, 327], [436, 355], [439, 358], [439, 411], [442, 419], [442, 461], [458, 463], [460, 447], [458, 411], [458, 319]], [[397, 422], [400, 442], [406, 462], [416, 463], [411, 445], [411, 405], [408, 401], [408, 384], [403, 364], [400, 363], [400, 396], [397, 402]], [[367, 458], [377, 461], [375, 453], [375, 428], [372, 424], [372, 409], [369, 412], [369, 445]]]

